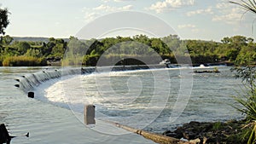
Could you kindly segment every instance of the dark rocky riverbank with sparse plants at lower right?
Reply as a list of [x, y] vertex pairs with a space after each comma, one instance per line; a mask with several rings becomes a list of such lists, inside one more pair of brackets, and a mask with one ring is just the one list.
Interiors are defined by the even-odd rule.
[[244, 120], [230, 120], [227, 122], [196, 122], [177, 127], [176, 130], [166, 130], [162, 135], [170, 136], [183, 141], [200, 141], [207, 144], [241, 144], [246, 143], [244, 139], [245, 131]]

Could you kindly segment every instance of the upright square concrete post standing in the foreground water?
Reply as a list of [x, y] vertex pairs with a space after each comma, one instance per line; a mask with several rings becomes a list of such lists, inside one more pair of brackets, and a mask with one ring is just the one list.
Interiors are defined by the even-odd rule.
[[84, 124], [96, 124], [95, 121], [95, 106], [86, 105], [84, 106]]

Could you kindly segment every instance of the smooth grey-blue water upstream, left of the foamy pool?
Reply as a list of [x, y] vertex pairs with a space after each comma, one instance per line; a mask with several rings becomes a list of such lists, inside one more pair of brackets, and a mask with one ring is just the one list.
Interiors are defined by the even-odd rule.
[[[46, 95], [36, 93], [36, 99], [28, 98], [27, 91], [35, 88], [44, 90], [40, 88], [41, 85], [55, 84], [61, 80], [58, 78], [60, 72], [55, 69], [60, 68], [0, 67], [0, 123], [8, 125], [10, 135], [17, 136], [11, 141], [12, 144], [153, 143], [134, 134], [107, 135], [91, 130], [75, 118], [69, 109], [50, 101], [39, 101], [39, 97]], [[64, 71], [63, 74], [77, 74], [77, 71]], [[16, 88], [15, 84], [20, 84], [20, 88]], [[27, 132], [30, 137], [24, 136]]]

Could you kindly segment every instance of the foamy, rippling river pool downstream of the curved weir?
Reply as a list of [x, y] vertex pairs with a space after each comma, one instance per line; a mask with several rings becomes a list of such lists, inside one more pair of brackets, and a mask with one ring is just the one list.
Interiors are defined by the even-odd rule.
[[[182, 72], [177, 68], [76, 75], [45, 82], [36, 95], [41, 101], [71, 109], [81, 123], [83, 118], [76, 113], [94, 104], [96, 119], [163, 132], [191, 120], [241, 118], [230, 107], [235, 102], [230, 95], [236, 95], [233, 89], [239, 88], [240, 81], [232, 77], [229, 67], [218, 68], [221, 73], [217, 74], [195, 75], [190, 68]], [[192, 95], [187, 95], [189, 90]]]

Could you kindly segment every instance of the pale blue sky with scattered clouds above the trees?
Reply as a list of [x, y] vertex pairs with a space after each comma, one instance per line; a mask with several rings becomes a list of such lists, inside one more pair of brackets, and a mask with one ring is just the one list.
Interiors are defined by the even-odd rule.
[[[112, 30], [102, 30], [106, 37], [141, 33], [164, 37], [168, 33], [181, 39], [220, 41], [236, 35], [256, 36], [256, 15], [245, 14], [229, 0], [1, 0], [0, 8], [9, 9], [6, 34], [15, 37], [68, 38], [88, 25], [92, 26], [84, 29], [85, 33], [112, 25]], [[129, 17], [116, 14], [127, 11], [134, 13]], [[108, 19], [113, 14], [113, 19]], [[166, 29], [161, 35], [143, 29], [148, 25], [160, 28], [163, 22], [173, 31]]]

